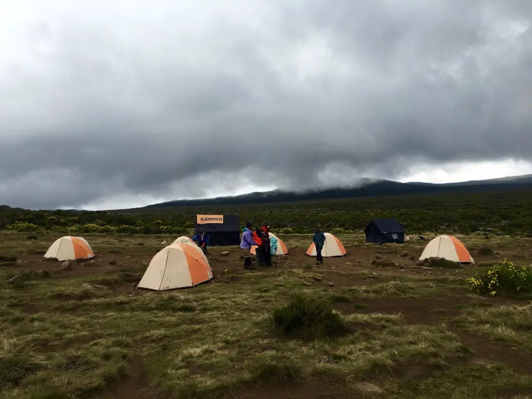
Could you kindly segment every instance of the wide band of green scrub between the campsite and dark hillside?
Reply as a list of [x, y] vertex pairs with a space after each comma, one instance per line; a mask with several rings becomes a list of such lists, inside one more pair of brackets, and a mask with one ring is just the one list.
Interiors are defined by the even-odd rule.
[[396, 218], [408, 233], [500, 231], [528, 234], [532, 190], [447, 195], [409, 195], [277, 204], [182, 206], [129, 211], [27, 211], [0, 206], [0, 229], [70, 233], [181, 234], [198, 213], [238, 214], [240, 222], [267, 220], [279, 234], [360, 231], [372, 218]]

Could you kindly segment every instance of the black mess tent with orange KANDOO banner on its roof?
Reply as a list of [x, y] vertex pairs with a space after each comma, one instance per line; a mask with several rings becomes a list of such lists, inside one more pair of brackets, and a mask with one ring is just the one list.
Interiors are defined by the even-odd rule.
[[237, 215], [196, 215], [196, 231], [209, 235], [209, 245], [240, 245], [240, 222]]

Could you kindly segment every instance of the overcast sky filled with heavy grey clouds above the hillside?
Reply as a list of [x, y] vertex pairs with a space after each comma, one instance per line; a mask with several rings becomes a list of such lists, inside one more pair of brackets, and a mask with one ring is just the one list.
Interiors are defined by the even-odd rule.
[[530, 0], [0, 0], [0, 204], [532, 173]]

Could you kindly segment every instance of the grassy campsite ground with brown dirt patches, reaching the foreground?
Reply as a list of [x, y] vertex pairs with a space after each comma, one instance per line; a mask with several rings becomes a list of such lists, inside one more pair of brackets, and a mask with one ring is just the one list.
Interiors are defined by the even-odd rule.
[[[169, 237], [84, 236], [95, 259], [66, 271], [42, 260], [53, 234], [0, 234], [0, 398], [532, 397], [529, 298], [472, 294], [483, 267], [416, 265], [425, 243], [343, 235], [348, 255], [315, 265], [310, 236], [284, 235], [275, 269], [212, 248], [212, 282], [150, 292], [136, 283]], [[462, 239], [479, 263], [532, 259], [528, 238]], [[296, 295], [338, 334], [281, 334], [272, 312]]]

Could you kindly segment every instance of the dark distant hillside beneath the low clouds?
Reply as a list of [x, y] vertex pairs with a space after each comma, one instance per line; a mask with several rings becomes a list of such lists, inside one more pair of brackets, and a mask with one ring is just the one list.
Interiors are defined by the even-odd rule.
[[446, 184], [422, 182], [401, 183], [392, 180], [365, 179], [362, 186], [354, 188], [329, 188], [306, 192], [272, 190], [269, 192], [256, 192], [238, 196], [207, 198], [203, 200], [169, 201], [148, 205], [142, 209], [178, 206], [278, 203], [393, 195], [472, 193], [482, 191], [522, 190], [528, 188], [532, 188], [532, 174]]

